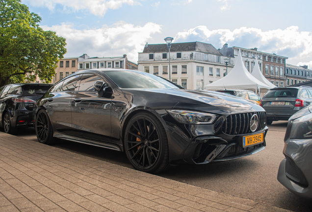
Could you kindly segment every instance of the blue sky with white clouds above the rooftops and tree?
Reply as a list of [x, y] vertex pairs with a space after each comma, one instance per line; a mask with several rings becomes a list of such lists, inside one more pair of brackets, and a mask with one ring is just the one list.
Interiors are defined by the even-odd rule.
[[146, 42], [224, 43], [312, 68], [311, 0], [22, 0], [41, 27], [67, 40], [66, 57], [127, 54]]

